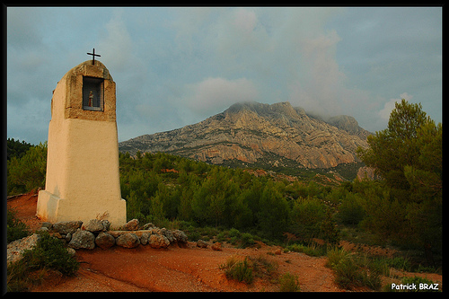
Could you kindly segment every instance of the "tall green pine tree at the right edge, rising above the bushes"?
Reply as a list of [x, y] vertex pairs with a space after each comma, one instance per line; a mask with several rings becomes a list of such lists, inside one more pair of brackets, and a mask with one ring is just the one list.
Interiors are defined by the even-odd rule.
[[368, 136], [361, 160], [383, 177], [389, 192], [365, 204], [365, 228], [398, 244], [442, 252], [442, 130], [421, 104], [396, 103], [388, 128]]

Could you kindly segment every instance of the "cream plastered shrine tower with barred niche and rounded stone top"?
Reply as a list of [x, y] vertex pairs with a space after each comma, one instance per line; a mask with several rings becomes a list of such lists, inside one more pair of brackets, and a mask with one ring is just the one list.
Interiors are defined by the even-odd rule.
[[38, 198], [40, 219], [126, 224], [115, 92], [110, 72], [94, 59], [75, 66], [57, 83], [48, 127], [47, 179]]

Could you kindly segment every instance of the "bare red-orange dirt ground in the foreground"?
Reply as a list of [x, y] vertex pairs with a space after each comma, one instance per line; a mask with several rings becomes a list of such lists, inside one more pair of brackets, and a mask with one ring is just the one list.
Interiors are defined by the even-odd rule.
[[[37, 194], [30, 193], [8, 199], [8, 208], [16, 211], [17, 217], [28, 224], [31, 231], [40, 227], [35, 216]], [[278, 275], [289, 272], [298, 277], [301, 291], [341, 292], [334, 283], [333, 271], [324, 265], [325, 257], [309, 257], [303, 253], [288, 252], [274, 254], [277, 246], [261, 244], [260, 249], [236, 249], [225, 244], [222, 251], [210, 248], [199, 249], [194, 242], [186, 248], [170, 246], [168, 249], [153, 249], [139, 245], [136, 249], [114, 246], [103, 251], [76, 251], [81, 267], [75, 277], [48, 275], [34, 292], [260, 292], [278, 291], [276, 279], [269, 276], [256, 277], [250, 286], [228, 280], [220, 269], [226, 259], [235, 256], [261, 257], [277, 264]], [[400, 273], [398, 276], [419, 275], [434, 282], [442, 277], [437, 274]], [[384, 277], [383, 283], [399, 282], [398, 278]], [[360, 289], [363, 291], [365, 289]]]

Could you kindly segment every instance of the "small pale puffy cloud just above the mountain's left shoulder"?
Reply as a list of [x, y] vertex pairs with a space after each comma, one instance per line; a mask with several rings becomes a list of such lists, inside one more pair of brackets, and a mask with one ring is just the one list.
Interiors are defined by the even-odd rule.
[[258, 96], [255, 85], [246, 78], [207, 78], [198, 84], [186, 85], [186, 89], [189, 96], [182, 101], [192, 112], [201, 115], [219, 113], [235, 102], [254, 101]]

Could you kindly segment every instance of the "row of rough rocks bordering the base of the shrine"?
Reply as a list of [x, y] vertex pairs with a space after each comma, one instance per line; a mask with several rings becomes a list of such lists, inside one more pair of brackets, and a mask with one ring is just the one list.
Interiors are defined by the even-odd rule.
[[108, 220], [92, 219], [87, 223], [82, 221], [64, 221], [56, 224], [42, 223], [41, 231], [66, 242], [67, 246], [77, 249], [92, 250], [100, 247], [107, 250], [117, 245], [124, 248], [136, 248], [139, 244], [152, 248], [167, 248], [171, 244], [186, 246], [188, 237], [180, 230], [168, 230], [145, 224], [142, 229], [138, 220], [133, 219], [123, 225], [118, 231], [110, 231]]

